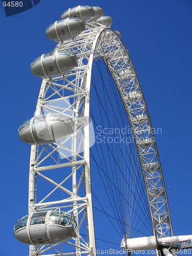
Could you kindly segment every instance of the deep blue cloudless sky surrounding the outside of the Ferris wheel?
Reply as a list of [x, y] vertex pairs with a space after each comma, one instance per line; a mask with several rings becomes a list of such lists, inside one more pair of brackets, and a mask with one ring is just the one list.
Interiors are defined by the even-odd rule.
[[[156, 134], [174, 234], [192, 234], [191, 224], [191, 0], [41, 0], [23, 13], [6, 17], [1, 28], [1, 231], [0, 255], [28, 255], [14, 238], [13, 225], [28, 213], [30, 146], [18, 126], [35, 111], [41, 79], [32, 60], [55, 42], [45, 29], [77, 5], [100, 6], [130, 51]], [[162, 133], [160, 132], [162, 131]], [[106, 238], [108, 240], [108, 238]]]

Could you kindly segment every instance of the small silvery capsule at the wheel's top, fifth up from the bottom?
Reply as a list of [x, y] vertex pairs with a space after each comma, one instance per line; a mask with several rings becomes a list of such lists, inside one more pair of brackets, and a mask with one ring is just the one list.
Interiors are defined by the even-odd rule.
[[79, 5], [73, 8], [69, 8], [65, 12], [63, 12], [60, 16], [61, 19], [68, 17], [80, 17], [85, 22], [91, 19], [94, 16], [94, 9], [92, 6], [88, 5]]

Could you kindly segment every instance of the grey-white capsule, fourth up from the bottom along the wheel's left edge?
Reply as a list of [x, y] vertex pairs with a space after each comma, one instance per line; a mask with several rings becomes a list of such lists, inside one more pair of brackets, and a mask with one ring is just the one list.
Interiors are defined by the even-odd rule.
[[46, 29], [46, 36], [53, 41], [63, 41], [74, 38], [86, 30], [86, 23], [79, 17], [57, 20]]

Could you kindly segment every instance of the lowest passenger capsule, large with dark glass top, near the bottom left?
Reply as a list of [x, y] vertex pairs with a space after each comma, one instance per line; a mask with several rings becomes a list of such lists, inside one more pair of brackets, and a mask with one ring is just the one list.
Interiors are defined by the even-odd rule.
[[75, 217], [65, 211], [37, 211], [20, 218], [14, 225], [17, 240], [31, 245], [48, 245], [76, 237]]

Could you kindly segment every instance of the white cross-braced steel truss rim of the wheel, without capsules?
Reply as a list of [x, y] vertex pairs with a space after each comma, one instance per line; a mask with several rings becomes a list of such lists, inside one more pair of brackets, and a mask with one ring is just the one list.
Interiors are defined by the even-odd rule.
[[[73, 117], [75, 133], [59, 143], [32, 145], [29, 175], [29, 214], [62, 209], [77, 221], [77, 237], [64, 246], [30, 246], [32, 255], [96, 254], [90, 173], [90, 85], [93, 60], [103, 58], [121, 95], [135, 138], [150, 205], [154, 234], [173, 234], [167, 196], [152, 124], [129, 52], [115, 31], [96, 22], [76, 38], [59, 42], [78, 66], [65, 76], [43, 79], [35, 116], [65, 113]], [[49, 185], [48, 185], [49, 184]], [[51, 184], [51, 185], [50, 185]], [[52, 186], [52, 188], [50, 188]], [[87, 241], [81, 229], [87, 228]], [[83, 231], [84, 232], [84, 231]], [[75, 248], [66, 252], [65, 245]], [[49, 251], [54, 251], [50, 252]]]

